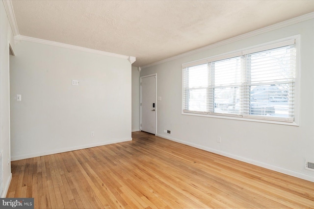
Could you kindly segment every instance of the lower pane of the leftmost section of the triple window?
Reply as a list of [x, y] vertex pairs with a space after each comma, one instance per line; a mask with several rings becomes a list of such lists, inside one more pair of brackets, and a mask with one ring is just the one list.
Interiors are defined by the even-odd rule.
[[207, 90], [194, 89], [188, 91], [188, 108], [189, 111], [207, 111]]

